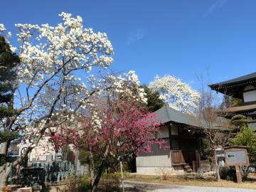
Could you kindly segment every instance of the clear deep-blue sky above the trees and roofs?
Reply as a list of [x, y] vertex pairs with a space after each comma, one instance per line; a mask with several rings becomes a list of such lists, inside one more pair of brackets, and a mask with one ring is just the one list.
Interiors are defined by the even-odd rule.
[[15, 23], [80, 15], [112, 41], [112, 69], [135, 70], [145, 84], [170, 74], [196, 88], [196, 73], [207, 68], [210, 82], [256, 71], [255, 8], [254, 0], [2, 1], [0, 23], [14, 34]]

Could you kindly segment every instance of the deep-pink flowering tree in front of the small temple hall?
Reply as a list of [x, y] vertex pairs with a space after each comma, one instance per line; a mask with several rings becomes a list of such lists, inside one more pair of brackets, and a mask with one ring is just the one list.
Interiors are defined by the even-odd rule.
[[119, 101], [107, 106], [92, 105], [90, 114], [78, 119], [82, 123], [79, 130], [62, 126], [58, 132], [47, 134], [55, 150], [73, 144], [89, 151], [92, 191], [96, 190], [102, 172], [117, 166], [119, 159], [129, 160], [142, 151], [150, 153], [152, 144], [169, 148], [165, 140], [156, 138], [161, 125], [156, 114], [146, 112], [135, 102]]

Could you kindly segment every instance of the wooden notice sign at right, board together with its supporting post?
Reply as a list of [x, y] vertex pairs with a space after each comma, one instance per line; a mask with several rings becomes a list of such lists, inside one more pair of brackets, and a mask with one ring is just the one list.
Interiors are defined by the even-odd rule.
[[235, 173], [238, 183], [242, 183], [242, 176], [239, 166], [249, 166], [249, 158], [246, 146], [228, 146], [225, 147], [225, 165], [235, 166]]

